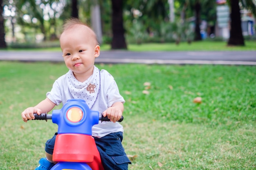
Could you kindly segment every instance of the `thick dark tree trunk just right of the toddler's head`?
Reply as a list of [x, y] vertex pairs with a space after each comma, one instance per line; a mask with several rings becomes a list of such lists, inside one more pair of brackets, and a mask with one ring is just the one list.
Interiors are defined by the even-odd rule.
[[111, 49], [127, 49], [124, 38], [123, 25], [123, 0], [111, 0], [112, 2], [112, 42]]

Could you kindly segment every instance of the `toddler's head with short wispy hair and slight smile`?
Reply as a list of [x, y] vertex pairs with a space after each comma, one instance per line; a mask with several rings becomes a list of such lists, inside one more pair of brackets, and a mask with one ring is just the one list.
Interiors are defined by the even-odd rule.
[[60, 38], [63, 58], [74, 75], [92, 75], [95, 57], [99, 56], [99, 45], [86, 26], [76, 26], [64, 31]]

